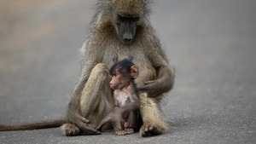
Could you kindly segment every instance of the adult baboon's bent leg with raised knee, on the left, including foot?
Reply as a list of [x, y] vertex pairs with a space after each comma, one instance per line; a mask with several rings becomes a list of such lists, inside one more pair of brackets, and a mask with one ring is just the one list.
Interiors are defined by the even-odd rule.
[[[98, 124], [101, 122], [108, 112], [113, 108], [113, 92], [109, 86], [111, 76], [108, 73], [106, 64], [97, 64], [90, 72], [82, 95], [80, 97], [80, 114], [90, 120], [90, 124]], [[106, 124], [102, 130], [111, 127]], [[64, 124], [61, 130], [65, 135], [80, 135], [81, 131], [75, 124]]]

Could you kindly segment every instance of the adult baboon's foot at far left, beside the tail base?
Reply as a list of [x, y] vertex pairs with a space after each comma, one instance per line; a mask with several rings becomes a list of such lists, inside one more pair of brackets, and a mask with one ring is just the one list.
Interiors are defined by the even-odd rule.
[[77, 127], [75, 124], [63, 124], [61, 126], [61, 130], [67, 136], [80, 135], [81, 133], [79, 127]]

